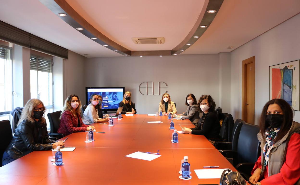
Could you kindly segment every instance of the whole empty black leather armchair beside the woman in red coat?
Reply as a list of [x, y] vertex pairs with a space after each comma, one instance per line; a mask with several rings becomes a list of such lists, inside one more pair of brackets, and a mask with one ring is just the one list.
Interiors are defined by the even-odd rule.
[[[251, 171], [261, 151], [260, 142], [257, 139], [258, 133], [259, 126], [243, 123], [238, 137], [237, 150], [221, 151], [221, 154], [227, 157], [227, 160], [247, 178], [251, 176]], [[228, 158], [228, 154], [232, 155], [232, 159]]]

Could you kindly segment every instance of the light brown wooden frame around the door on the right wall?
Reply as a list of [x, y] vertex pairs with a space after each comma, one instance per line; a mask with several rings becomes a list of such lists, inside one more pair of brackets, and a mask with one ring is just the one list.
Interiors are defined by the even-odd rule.
[[[246, 109], [245, 109], [245, 101], [246, 101], [246, 95], [245, 95], [245, 90], [247, 87], [246, 84], [246, 75], [245, 75], [245, 67], [246, 64], [250, 64], [253, 63], [253, 73], [254, 73], [254, 79], [253, 79], [253, 83], [254, 83], [254, 112], [255, 112], [255, 56], [247, 58], [245, 60], [243, 60], [243, 64], [242, 64], [242, 120], [245, 120], [245, 116], [246, 116]], [[253, 115], [254, 116], [254, 115]], [[255, 116], [254, 116], [255, 118]], [[254, 123], [253, 123], [254, 124]]]

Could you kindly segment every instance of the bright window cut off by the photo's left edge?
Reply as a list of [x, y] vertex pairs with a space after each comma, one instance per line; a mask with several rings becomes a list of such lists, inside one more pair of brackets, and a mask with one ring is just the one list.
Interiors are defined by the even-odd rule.
[[0, 46], [0, 120], [10, 120], [12, 105], [11, 48]]

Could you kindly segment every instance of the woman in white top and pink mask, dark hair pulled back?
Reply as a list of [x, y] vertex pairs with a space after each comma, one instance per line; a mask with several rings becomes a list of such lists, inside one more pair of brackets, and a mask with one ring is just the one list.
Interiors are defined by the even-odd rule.
[[90, 125], [92, 123], [100, 123], [107, 122], [108, 118], [99, 118], [98, 110], [96, 105], [99, 103], [99, 96], [97, 94], [92, 94], [90, 100], [88, 100], [88, 106], [83, 112], [82, 121], [86, 125]]

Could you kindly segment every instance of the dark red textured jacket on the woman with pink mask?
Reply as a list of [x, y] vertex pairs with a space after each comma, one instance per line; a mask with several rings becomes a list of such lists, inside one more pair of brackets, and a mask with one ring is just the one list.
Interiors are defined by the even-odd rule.
[[73, 132], [84, 132], [86, 127], [89, 125], [83, 124], [81, 115], [78, 116], [80, 120], [80, 127], [77, 127], [78, 118], [76, 118], [71, 111], [64, 111], [64, 113], [61, 115], [60, 126], [57, 130], [57, 133], [67, 136]]

